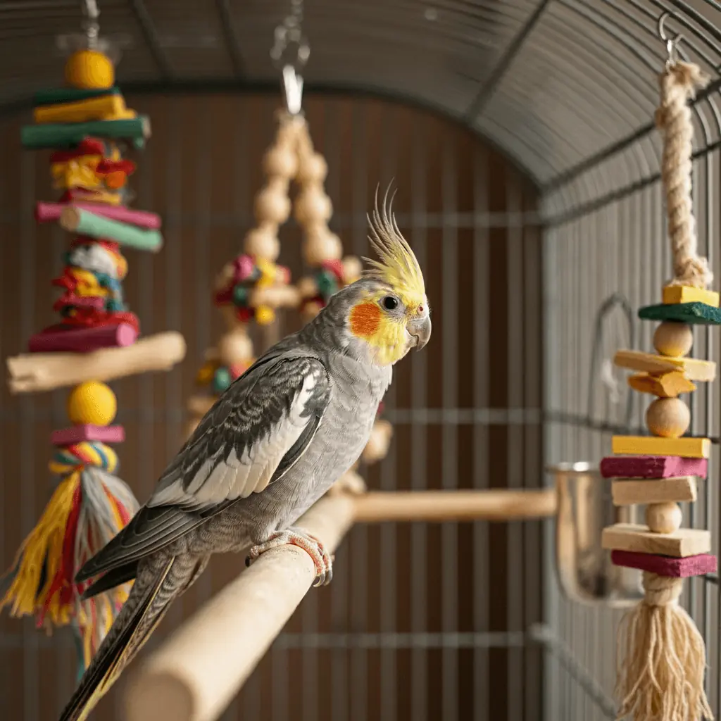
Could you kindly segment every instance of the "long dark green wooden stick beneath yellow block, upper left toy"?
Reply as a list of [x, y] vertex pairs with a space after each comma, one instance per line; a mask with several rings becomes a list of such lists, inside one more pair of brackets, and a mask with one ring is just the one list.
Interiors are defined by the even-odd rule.
[[130, 141], [141, 149], [150, 136], [150, 118], [138, 115], [127, 120], [94, 120], [90, 123], [39, 123], [24, 125], [20, 131], [22, 147], [32, 150], [72, 148], [88, 136]]

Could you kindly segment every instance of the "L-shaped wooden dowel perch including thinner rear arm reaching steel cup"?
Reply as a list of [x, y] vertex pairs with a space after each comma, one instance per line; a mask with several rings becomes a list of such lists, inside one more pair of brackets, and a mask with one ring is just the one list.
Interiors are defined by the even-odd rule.
[[[334, 552], [354, 521], [490, 521], [545, 518], [556, 492], [478, 490], [373, 492], [324, 497], [297, 525]], [[151, 654], [133, 675], [125, 721], [213, 721], [220, 717], [311, 588], [306, 552], [262, 554]]]

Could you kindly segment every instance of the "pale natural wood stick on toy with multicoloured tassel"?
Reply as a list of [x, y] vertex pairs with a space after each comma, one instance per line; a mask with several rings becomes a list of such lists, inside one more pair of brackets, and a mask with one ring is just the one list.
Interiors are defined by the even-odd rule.
[[185, 340], [169, 331], [141, 338], [125, 348], [93, 353], [29, 353], [7, 359], [11, 393], [50, 391], [89, 378], [112, 381], [147, 371], [167, 371], [185, 356]]

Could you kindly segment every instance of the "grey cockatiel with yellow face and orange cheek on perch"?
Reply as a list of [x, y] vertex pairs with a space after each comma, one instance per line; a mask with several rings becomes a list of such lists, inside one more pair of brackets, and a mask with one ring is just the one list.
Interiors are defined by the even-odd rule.
[[[387, 193], [386, 193], [387, 198]], [[303, 329], [281, 340], [221, 395], [128, 526], [90, 559], [93, 596], [135, 579], [61, 721], [87, 718], [190, 588], [211, 553], [250, 547], [248, 562], [295, 544], [329, 583], [322, 544], [292, 524], [366, 446], [394, 363], [430, 338], [423, 273], [386, 200], [368, 218], [371, 260]]]

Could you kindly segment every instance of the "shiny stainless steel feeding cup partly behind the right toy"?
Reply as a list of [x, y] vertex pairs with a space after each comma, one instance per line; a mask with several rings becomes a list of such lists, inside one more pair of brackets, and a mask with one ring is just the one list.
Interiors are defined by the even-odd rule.
[[556, 567], [561, 588], [578, 603], [622, 608], [642, 598], [640, 571], [614, 566], [601, 548], [601, 532], [613, 523], [636, 523], [635, 506], [616, 507], [611, 479], [588, 463], [548, 466], [558, 494]]

